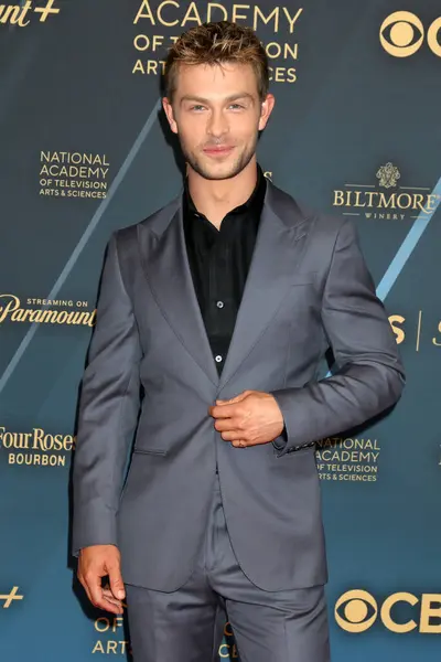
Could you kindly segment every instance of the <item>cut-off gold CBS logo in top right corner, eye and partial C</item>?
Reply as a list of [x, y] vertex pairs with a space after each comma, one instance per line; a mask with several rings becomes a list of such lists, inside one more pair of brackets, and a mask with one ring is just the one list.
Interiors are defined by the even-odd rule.
[[[432, 53], [441, 57], [441, 17], [433, 21], [427, 34]], [[421, 47], [424, 41], [424, 26], [410, 11], [396, 11], [383, 21], [379, 29], [381, 46], [394, 57], [409, 57]]]

